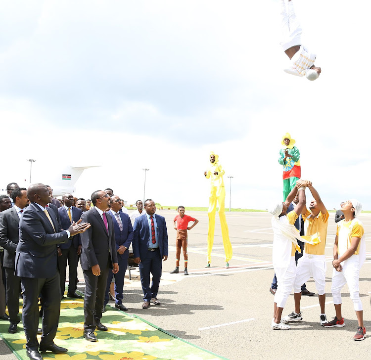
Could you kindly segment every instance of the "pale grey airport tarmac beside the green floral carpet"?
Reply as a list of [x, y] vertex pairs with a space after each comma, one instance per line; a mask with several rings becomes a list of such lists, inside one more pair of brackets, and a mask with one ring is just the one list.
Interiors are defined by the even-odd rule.
[[[185, 339], [201, 348], [230, 360], [242, 359], [338, 359], [364, 357], [369, 350], [369, 338], [353, 341], [357, 330], [356, 314], [347, 285], [343, 288], [343, 316], [345, 327], [325, 329], [320, 326], [320, 308], [313, 279], [307, 288], [316, 293], [302, 297], [303, 320], [290, 324], [288, 331], [273, 330], [270, 326], [274, 297], [269, 293], [274, 270], [272, 267], [271, 215], [264, 212], [226, 213], [233, 258], [225, 268], [223, 241], [218, 214], [211, 268], [207, 264], [208, 216], [206, 212], [186, 212], [199, 220], [188, 232], [188, 276], [183, 275], [181, 255], [179, 274], [170, 274], [175, 268], [175, 236], [173, 226], [176, 211], [157, 211], [166, 219], [169, 234], [169, 259], [163, 264], [163, 276], [158, 294], [161, 306], [141, 309], [142, 291], [139, 273], [132, 270], [132, 280], [124, 285], [124, 304], [128, 313]], [[360, 294], [364, 307], [367, 333], [371, 334], [371, 214], [361, 214], [365, 226], [367, 260], [361, 269]], [[331, 296], [332, 247], [336, 224], [334, 213], [328, 221], [326, 242], [326, 314], [335, 316]], [[128, 277], [128, 272], [126, 277]], [[79, 278], [83, 280], [79, 268]], [[83, 290], [83, 283], [79, 290]], [[110, 302], [113, 305], [113, 302]], [[293, 311], [290, 295], [283, 315]], [[102, 318], [104, 323], [104, 315]], [[84, 340], [82, 340], [84, 341]], [[0, 359], [16, 358], [9, 354], [0, 341]]]

